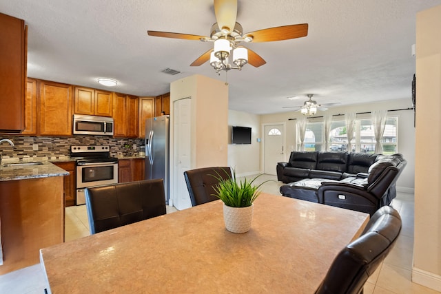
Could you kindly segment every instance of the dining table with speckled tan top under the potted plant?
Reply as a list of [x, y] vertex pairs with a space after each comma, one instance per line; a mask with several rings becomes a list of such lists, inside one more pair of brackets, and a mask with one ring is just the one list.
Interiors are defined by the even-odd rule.
[[48, 293], [314, 293], [369, 214], [261, 193], [246, 233], [223, 202], [40, 250]]

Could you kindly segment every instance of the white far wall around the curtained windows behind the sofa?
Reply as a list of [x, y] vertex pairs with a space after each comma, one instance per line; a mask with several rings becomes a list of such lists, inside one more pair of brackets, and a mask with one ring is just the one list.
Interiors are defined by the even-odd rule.
[[[411, 81], [412, 76], [409, 76], [409, 97], [399, 99], [396, 101], [386, 101], [384, 103], [371, 104], [357, 104], [349, 107], [332, 107], [326, 112], [318, 112], [317, 116], [345, 114], [348, 112], [372, 112], [379, 109], [406, 109], [411, 108]], [[231, 112], [231, 111], [230, 111]], [[370, 114], [366, 114], [370, 117]], [[397, 182], [398, 191], [405, 191], [413, 193], [414, 176], [415, 176], [415, 128], [413, 127], [413, 110], [402, 110], [398, 112], [389, 112], [388, 116], [398, 116], [398, 152], [403, 154], [407, 160], [407, 167], [405, 167]], [[289, 159], [290, 151], [296, 146], [296, 120], [289, 120], [289, 118], [301, 118], [300, 112], [283, 112], [278, 114], [267, 114], [260, 116], [260, 123], [287, 123], [287, 145], [285, 149], [285, 160]], [[361, 117], [361, 116], [357, 116]], [[344, 116], [338, 116], [334, 119], [345, 119]]]

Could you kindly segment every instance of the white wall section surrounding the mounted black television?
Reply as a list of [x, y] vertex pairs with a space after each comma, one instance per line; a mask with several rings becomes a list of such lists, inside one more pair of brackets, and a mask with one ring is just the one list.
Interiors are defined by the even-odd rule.
[[[232, 144], [232, 126], [251, 127], [251, 145]], [[247, 112], [228, 112], [228, 166], [236, 170], [236, 176], [249, 176], [260, 173], [260, 116]]]

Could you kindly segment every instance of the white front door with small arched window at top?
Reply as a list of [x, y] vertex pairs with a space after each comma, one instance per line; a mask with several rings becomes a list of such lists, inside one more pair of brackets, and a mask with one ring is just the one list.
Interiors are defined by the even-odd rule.
[[284, 125], [265, 125], [264, 137], [264, 173], [276, 175], [277, 162], [285, 159], [285, 148], [283, 138], [285, 134]]

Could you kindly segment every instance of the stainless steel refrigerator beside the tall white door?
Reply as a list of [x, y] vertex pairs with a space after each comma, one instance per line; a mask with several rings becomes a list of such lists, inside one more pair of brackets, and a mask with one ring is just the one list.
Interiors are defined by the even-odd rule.
[[145, 120], [145, 179], [164, 180], [165, 203], [170, 195], [170, 116]]

